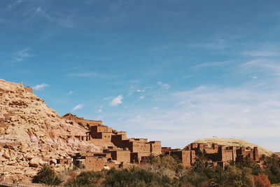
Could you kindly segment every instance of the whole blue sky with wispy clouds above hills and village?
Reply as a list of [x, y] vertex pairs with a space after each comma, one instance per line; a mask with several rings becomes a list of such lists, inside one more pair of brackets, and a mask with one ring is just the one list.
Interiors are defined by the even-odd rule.
[[280, 1], [1, 0], [0, 78], [60, 115], [280, 151]]

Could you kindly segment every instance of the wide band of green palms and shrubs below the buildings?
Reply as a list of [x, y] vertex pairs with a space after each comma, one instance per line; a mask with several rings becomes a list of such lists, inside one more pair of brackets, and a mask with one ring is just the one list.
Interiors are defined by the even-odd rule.
[[[147, 158], [145, 164], [131, 165], [123, 169], [80, 172], [73, 175], [65, 186], [269, 187], [271, 183], [280, 182], [280, 158], [276, 155], [262, 157], [263, 167], [259, 167], [250, 158], [244, 158], [242, 162], [228, 162], [224, 169], [209, 164], [202, 153], [198, 155], [195, 164], [190, 168], [182, 167], [178, 158], [160, 155]], [[44, 179], [48, 173], [45, 171], [52, 170], [43, 167], [37, 176]], [[50, 173], [54, 176], [52, 172]]]

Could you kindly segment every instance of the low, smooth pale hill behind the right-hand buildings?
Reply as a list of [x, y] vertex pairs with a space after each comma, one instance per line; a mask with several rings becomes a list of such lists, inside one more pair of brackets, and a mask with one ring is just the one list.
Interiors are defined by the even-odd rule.
[[[194, 141], [193, 143], [203, 143], [208, 144], [211, 146], [211, 144], [218, 144], [221, 146], [237, 146], [237, 147], [255, 147], [258, 146], [256, 144], [253, 144], [251, 142], [245, 141], [243, 139], [225, 139], [225, 138], [218, 138], [218, 137], [212, 137], [212, 138], [206, 138], [206, 139], [199, 139], [197, 141]], [[272, 155], [272, 151], [267, 150], [266, 148], [263, 148], [261, 146], [258, 146], [258, 153], [259, 155]]]

